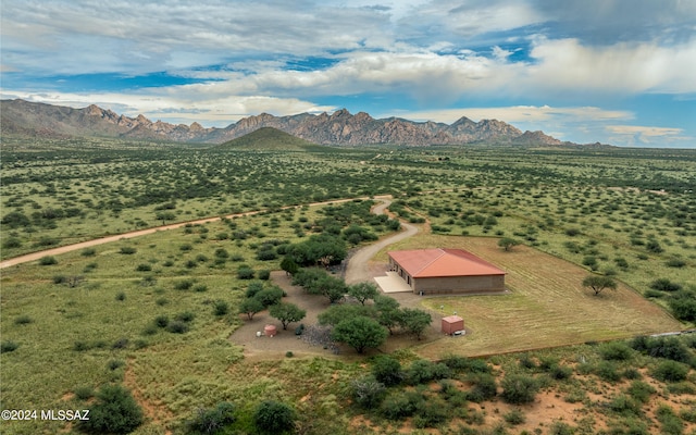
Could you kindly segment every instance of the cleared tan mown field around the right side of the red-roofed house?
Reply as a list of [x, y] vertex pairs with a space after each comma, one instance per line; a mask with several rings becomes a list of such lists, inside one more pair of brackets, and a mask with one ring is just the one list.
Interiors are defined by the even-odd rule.
[[[507, 272], [509, 293], [495, 296], [433, 297], [428, 309], [464, 319], [464, 337], [443, 338], [418, 347], [417, 353], [437, 358], [446, 352], [495, 355], [542, 347], [633, 337], [680, 331], [683, 325], [666, 310], [620, 285], [594, 296], [583, 288], [587, 271], [535, 249], [518, 246], [507, 252], [497, 239], [417, 235], [390, 249], [438, 246], [461, 248]], [[386, 258], [382, 252], [377, 260]]]

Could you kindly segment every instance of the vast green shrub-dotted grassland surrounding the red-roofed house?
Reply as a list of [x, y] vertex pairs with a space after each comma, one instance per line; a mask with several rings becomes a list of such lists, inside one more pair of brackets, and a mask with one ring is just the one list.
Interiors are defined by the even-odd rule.
[[[3, 409], [79, 409], [94, 402], [99, 387], [114, 383], [127, 387], [144, 409], [140, 434], [186, 433], [186, 421], [199, 408], [221, 401], [234, 402], [237, 410], [229, 433], [254, 433], [250, 415], [262, 398], [291, 403], [298, 432], [307, 434], [399, 427], [506, 433], [493, 432], [500, 425], [511, 434], [546, 434], [561, 418], [576, 434], [627, 433], [627, 422], [645, 426], [633, 433], [652, 434], [664, 432], [661, 403], [681, 419], [682, 433], [694, 431], [696, 380], [688, 369], [694, 364], [680, 362], [687, 368], [682, 381], [658, 380], [663, 358], [638, 350], [618, 363], [604, 360], [604, 345], [486, 358], [498, 394], [481, 402], [449, 405], [451, 398], [439, 396], [436, 382], [388, 388], [387, 397], [400, 395], [399, 388], [435, 395], [434, 403], [451, 406], [457, 415], [421, 427], [422, 419], [390, 420], [380, 406], [365, 410], [355, 403], [352, 381], [369, 374], [374, 358], [327, 356], [324, 349], [315, 356], [277, 349], [270, 359], [245, 357], [229, 339], [245, 322], [236, 313], [249, 284], [239, 277], [243, 264], [257, 277], [277, 271], [288, 245], [315, 234], [343, 234], [350, 223], [377, 236], [390, 234], [385, 222], [366, 215], [369, 201], [282, 207], [378, 194], [394, 195], [393, 212], [435, 233], [397, 247], [455, 244], [509, 272], [507, 295], [424, 299], [435, 311], [445, 306], [446, 312], [461, 313], [471, 334], [393, 351], [405, 370], [422, 357], [437, 360], [455, 351], [488, 355], [689, 327], [693, 321], [680, 323], [667, 310], [674, 295], [696, 290], [696, 199], [688, 191], [696, 184], [693, 151], [385, 147], [256, 152], [112, 145], [98, 151], [67, 152], [55, 144], [52, 151], [3, 149], [2, 259], [162, 223], [269, 210], [3, 269]], [[462, 237], [464, 232], [487, 237]], [[496, 246], [504, 236], [526, 246], [505, 252]], [[271, 251], [272, 259], [261, 254]], [[580, 284], [593, 270], [624, 284], [595, 297]], [[657, 278], [669, 278], [681, 290], [654, 290]], [[216, 312], [221, 302], [227, 306], [224, 313]], [[183, 330], [157, 326], [163, 316]], [[687, 347], [692, 341], [683, 339]], [[10, 344], [14, 349], [8, 350]], [[288, 350], [297, 356], [277, 357]], [[521, 370], [526, 356], [536, 366]], [[543, 368], [547, 360], [572, 374], [550, 380], [550, 369]], [[619, 381], [606, 380], [605, 362], [613, 364]], [[624, 373], [632, 369], [656, 391], [649, 403], [626, 405], [632, 412], [626, 414], [618, 401], [630, 396], [636, 378]], [[514, 407], [504, 403], [501, 383], [506, 373], [519, 371], [544, 386], [533, 403]], [[450, 376], [464, 391], [474, 384], [467, 370]], [[526, 423], [515, 426], [504, 414], [518, 408]], [[624, 432], [609, 432], [614, 426]], [[3, 434], [60, 431], [76, 428], [60, 421], [0, 426]]]

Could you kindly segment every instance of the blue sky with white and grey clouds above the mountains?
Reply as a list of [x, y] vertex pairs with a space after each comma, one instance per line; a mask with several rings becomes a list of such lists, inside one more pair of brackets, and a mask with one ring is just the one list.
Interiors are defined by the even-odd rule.
[[0, 98], [224, 127], [496, 119], [696, 148], [695, 0], [0, 2]]

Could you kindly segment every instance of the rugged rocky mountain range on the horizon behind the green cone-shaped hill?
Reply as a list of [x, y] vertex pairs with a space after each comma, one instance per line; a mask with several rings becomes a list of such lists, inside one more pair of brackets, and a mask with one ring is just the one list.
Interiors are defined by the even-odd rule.
[[84, 109], [29, 102], [0, 101], [3, 134], [34, 136], [104, 136], [181, 142], [223, 144], [262, 127], [273, 127], [301, 139], [332, 146], [393, 144], [407, 146], [464, 145], [575, 145], [543, 132], [521, 132], [497, 120], [471, 121], [462, 116], [452, 124], [413, 122], [400, 117], [376, 120], [365, 112], [355, 115], [346, 109], [332, 114], [300, 113], [249, 116], [225, 128], [152, 122], [144, 115], [128, 117], [91, 104]]

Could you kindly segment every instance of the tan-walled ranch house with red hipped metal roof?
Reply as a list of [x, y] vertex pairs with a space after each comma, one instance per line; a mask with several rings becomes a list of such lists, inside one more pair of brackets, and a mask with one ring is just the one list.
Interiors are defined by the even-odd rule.
[[462, 249], [390, 251], [389, 270], [415, 294], [505, 291], [505, 271]]

